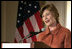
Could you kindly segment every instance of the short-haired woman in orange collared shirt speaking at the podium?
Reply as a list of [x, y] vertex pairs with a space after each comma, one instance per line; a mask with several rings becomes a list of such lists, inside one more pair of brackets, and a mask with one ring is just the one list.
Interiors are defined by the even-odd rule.
[[51, 48], [71, 48], [71, 32], [59, 23], [56, 7], [48, 4], [41, 9], [40, 14], [46, 29], [38, 35], [37, 40]]

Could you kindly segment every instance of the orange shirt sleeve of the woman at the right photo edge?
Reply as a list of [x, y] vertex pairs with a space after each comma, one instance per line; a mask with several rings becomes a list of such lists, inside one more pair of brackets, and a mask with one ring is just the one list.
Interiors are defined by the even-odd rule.
[[68, 31], [65, 36], [64, 48], [71, 48], [71, 32], [70, 31]]

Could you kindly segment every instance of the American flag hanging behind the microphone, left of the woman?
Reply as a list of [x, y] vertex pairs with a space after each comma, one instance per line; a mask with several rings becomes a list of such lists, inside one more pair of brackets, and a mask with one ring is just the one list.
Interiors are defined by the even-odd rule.
[[[38, 1], [19, 1], [17, 24], [15, 32], [15, 42], [19, 42], [31, 31], [37, 32], [43, 27], [40, 17], [40, 6]], [[30, 43], [37, 41], [37, 35], [24, 39], [22, 43]]]

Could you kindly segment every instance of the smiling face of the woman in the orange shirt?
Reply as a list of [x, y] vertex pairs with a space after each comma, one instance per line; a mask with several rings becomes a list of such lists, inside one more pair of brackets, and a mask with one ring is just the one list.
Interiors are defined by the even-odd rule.
[[42, 20], [46, 26], [51, 26], [56, 23], [53, 14], [47, 9], [43, 11]]

